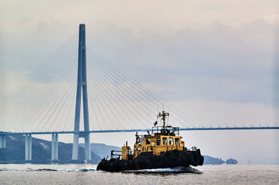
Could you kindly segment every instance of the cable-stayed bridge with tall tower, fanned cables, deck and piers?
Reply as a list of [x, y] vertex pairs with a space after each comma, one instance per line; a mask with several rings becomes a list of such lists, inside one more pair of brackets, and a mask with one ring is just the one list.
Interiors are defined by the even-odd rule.
[[[25, 135], [25, 160], [31, 161], [31, 136], [51, 134], [52, 160], [58, 160], [58, 134], [73, 134], [72, 159], [78, 159], [79, 138], [84, 138], [85, 159], [90, 161], [91, 133], [149, 131], [146, 128], [155, 121], [162, 102], [96, 49], [86, 46], [85, 25], [80, 24], [79, 31], [1, 102], [0, 148], [6, 148], [6, 136]], [[204, 127], [176, 106], [167, 105], [172, 124], [180, 130], [279, 129], [260, 125]]]

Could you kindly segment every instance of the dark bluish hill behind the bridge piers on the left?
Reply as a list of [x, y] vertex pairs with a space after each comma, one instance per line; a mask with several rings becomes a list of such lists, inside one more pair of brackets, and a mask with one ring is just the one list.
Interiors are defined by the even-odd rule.
[[[51, 142], [39, 138], [32, 138], [32, 161], [33, 163], [49, 163], [51, 159]], [[68, 161], [72, 159], [72, 143], [58, 144], [59, 161]], [[79, 161], [84, 160], [84, 149], [79, 147]], [[6, 149], [0, 149], [0, 163], [13, 162], [22, 163], [24, 161], [25, 152], [25, 138], [22, 135], [6, 136]], [[91, 152], [93, 163], [99, 163], [100, 156]]]

